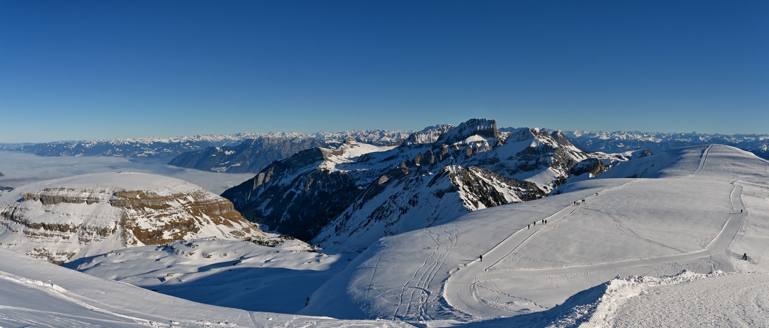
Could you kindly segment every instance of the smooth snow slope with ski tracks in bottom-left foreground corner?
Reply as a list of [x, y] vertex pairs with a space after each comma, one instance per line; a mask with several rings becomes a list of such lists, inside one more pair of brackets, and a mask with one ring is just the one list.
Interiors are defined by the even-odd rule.
[[413, 327], [386, 320], [335, 320], [195, 303], [5, 249], [0, 249], [0, 290], [4, 327]]

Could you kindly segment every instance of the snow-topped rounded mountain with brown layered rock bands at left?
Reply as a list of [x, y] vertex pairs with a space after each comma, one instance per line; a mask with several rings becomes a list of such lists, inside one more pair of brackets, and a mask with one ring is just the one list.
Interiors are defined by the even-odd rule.
[[265, 236], [229, 200], [155, 174], [83, 174], [0, 196], [0, 247], [53, 263], [171, 240]]

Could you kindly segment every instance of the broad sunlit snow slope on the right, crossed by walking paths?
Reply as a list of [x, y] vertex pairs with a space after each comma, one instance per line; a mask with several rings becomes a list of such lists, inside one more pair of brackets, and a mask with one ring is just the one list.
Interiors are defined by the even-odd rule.
[[[602, 178], [644, 169], [645, 178]], [[548, 310], [615, 276], [764, 270], [766, 244], [749, 249], [753, 264], [741, 259], [741, 240], [769, 235], [766, 224], [754, 222], [769, 204], [756, 200], [746, 211], [742, 198], [743, 184], [765, 185], [767, 161], [702, 145], [633, 159], [604, 174], [568, 184], [563, 194], [384, 237], [299, 313], [474, 320]]]

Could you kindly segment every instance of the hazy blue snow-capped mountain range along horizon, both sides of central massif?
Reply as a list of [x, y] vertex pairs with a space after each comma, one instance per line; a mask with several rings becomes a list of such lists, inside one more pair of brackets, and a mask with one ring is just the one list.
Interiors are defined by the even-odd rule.
[[[435, 125], [425, 131], [445, 128]], [[511, 129], [511, 128], [508, 128]], [[504, 129], [501, 129], [501, 131]], [[348, 137], [375, 146], [398, 144], [414, 131], [341, 131], [203, 134], [193, 137], [141, 137], [112, 141], [55, 141], [42, 144], [0, 144], [0, 151], [22, 151], [38, 156], [173, 157], [168, 163], [201, 171], [258, 173], [272, 161], [311, 147], [335, 148]], [[638, 131], [564, 131], [581, 151], [623, 153], [648, 148], [657, 154], [676, 147], [726, 144], [769, 159], [769, 134], [698, 134]]]

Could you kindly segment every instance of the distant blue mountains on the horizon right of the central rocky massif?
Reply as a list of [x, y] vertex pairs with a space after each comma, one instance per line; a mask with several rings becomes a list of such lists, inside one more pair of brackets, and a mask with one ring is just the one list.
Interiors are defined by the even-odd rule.
[[649, 148], [654, 154], [697, 144], [726, 144], [769, 159], [769, 134], [699, 134], [638, 131], [565, 131], [572, 144], [583, 151], [621, 153]]

